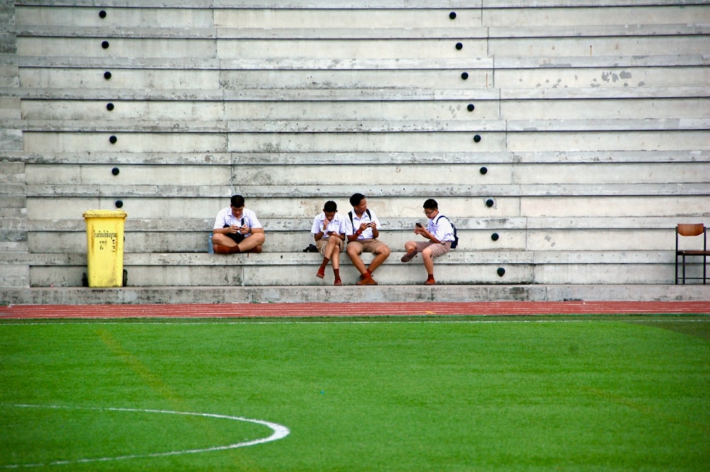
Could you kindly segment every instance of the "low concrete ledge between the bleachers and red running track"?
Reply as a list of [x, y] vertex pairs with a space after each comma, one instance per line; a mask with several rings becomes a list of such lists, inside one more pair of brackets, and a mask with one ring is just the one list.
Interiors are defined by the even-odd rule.
[[[263, 286], [263, 287], [0, 287], [3, 304], [214, 304], [219, 317], [221, 304], [253, 304], [258, 317], [259, 304], [268, 303], [346, 303], [364, 302], [564, 302], [564, 301], [688, 301], [710, 300], [710, 285], [355, 285]], [[323, 307], [326, 309], [326, 307]], [[312, 316], [337, 315], [337, 305], [329, 312]], [[97, 307], [96, 316], [104, 312]], [[429, 314], [436, 314], [431, 312]], [[466, 314], [466, 313], [461, 313]], [[507, 314], [501, 306], [500, 314]], [[643, 314], [643, 311], [640, 312]], [[368, 313], [363, 313], [367, 316]]]

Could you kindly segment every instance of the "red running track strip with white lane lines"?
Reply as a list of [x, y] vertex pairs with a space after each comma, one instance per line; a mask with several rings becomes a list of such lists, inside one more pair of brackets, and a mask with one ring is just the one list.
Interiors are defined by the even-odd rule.
[[691, 302], [364, 302], [234, 304], [9, 305], [0, 319], [250, 318], [536, 314], [710, 314]]

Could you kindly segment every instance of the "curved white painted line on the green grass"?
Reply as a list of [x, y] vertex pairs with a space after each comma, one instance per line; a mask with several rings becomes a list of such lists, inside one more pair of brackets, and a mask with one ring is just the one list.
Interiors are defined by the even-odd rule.
[[96, 410], [96, 411], [109, 411], [109, 412], [139, 412], [139, 413], [162, 413], [165, 415], [187, 415], [187, 416], [201, 416], [208, 418], [220, 418], [220, 419], [232, 419], [234, 421], [242, 421], [254, 424], [262, 424], [270, 428], [273, 431], [268, 437], [261, 439], [253, 439], [251, 441], [236, 442], [234, 444], [226, 444], [225, 446], [212, 446], [204, 449], [185, 449], [182, 451], [168, 451], [168, 452], [154, 452], [151, 454], [130, 454], [126, 456], [115, 456], [115, 457], [97, 457], [93, 459], [77, 459], [75, 461], [53, 461], [48, 463], [32, 463], [32, 464], [11, 464], [0, 466], [1, 468], [24, 468], [24, 467], [43, 467], [43, 466], [59, 466], [70, 463], [89, 463], [89, 462], [106, 462], [106, 461], [121, 461], [126, 459], [145, 459], [148, 457], [163, 457], [163, 456], [179, 456], [181, 454], [197, 454], [199, 452], [213, 452], [213, 451], [224, 451], [226, 449], [236, 449], [238, 447], [255, 446], [256, 444], [263, 444], [271, 441], [278, 441], [288, 436], [290, 430], [277, 423], [272, 423], [268, 421], [263, 421], [262, 419], [251, 419], [243, 417], [235, 417], [229, 415], [216, 415], [214, 413], [194, 413], [194, 412], [173, 412], [169, 410], [141, 410], [138, 408], [102, 408], [102, 407], [66, 407], [60, 405], [10, 405], [16, 408], [52, 408], [52, 409], [65, 409], [65, 410]]

